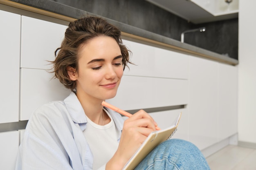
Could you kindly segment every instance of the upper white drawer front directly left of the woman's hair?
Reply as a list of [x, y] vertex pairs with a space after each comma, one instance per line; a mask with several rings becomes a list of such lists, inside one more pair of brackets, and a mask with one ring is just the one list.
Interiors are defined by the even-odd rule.
[[22, 16], [21, 68], [49, 69], [67, 26]]

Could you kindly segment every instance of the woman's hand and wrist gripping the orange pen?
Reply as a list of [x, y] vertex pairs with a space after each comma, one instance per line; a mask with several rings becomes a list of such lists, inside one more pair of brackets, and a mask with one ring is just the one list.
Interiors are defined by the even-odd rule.
[[108, 161], [106, 170], [121, 170], [141, 146], [148, 135], [155, 131], [156, 123], [144, 110], [139, 110], [124, 121], [119, 147]]

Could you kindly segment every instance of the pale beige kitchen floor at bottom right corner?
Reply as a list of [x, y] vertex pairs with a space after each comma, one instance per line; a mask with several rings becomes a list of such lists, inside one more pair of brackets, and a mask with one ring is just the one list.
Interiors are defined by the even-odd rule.
[[256, 170], [256, 149], [229, 145], [206, 160], [211, 170]]

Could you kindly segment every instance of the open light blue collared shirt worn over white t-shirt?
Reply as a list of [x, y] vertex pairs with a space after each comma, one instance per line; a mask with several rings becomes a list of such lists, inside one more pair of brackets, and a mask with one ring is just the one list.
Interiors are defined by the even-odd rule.
[[[106, 109], [117, 127], [119, 142], [124, 120]], [[86, 124], [84, 110], [73, 92], [64, 101], [37, 108], [20, 144], [16, 170], [92, 170], [92, 152], [83, 135]]]

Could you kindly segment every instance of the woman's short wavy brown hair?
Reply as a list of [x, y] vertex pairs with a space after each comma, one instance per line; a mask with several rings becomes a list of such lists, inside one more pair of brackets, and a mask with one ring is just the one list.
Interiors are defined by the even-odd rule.
[[[130, 62], [129, 50], [122, 44], [121, 31], [117, 27], [109, 24], [99, 17], [85, 17], [74, 22], [70, 22], [65, 32], [65, 38], [61, 47], [56, 49], [56, 59], [52, 61], [54, 65], [55, 77], [72, 91], [76, 88], [76, 82], [70, 80], [67, 67], [71, 66], [78, 71], [78, 51], [81, 45], [99, 36], [109, 36], [114, 38], [120, 47], [123, 56], [122, 64], [125, 68]], [[59, 51], [59, 52], [58, 52]], [[58, 55], [56, 55], [58, 52]]]

